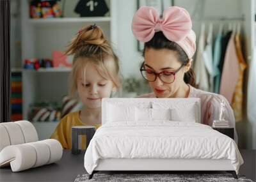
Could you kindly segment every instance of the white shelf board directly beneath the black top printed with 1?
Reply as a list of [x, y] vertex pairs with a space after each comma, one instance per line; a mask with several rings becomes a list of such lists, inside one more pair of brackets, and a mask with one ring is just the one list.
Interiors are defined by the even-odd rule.
[[77, 17], [77, 18], [51, 18], [51, 19], [29, 19], [30, 24], [51, 23], [81, 23], [81, 22], [110, 22], [110, 17]]

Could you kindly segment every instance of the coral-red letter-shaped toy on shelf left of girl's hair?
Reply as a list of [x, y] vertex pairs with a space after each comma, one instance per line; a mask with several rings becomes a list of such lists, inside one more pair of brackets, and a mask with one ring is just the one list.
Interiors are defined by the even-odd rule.
[[65, 55], [61, 51], [52, 52], [53, 67], [72, 67], [72, 57]]

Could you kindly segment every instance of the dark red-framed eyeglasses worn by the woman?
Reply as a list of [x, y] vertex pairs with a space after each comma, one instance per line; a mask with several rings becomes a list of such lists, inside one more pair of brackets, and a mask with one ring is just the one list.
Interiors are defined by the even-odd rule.
[[179, 70], [184, 66], [184, 64], [182, 64], [180, 66], [180, 68], [175, 71], [175, 72], [169, 72], [169, 71], [163, 71], [160, 73], [156, 73], [154, 71], [152, 71], [151, 69], [146, 69], [144, 63], [141, 65], [140, 67], [140, 72], [141, 75], [143, 76], [144, 79], [148, 80], [148, 82], [154, 82], [156, 81], [157, 77], [159, 77], [159, 79], [166, 83], [166, 84], [172, 84], [175, 80], [175, 74], [177, 72], [179, 72]]

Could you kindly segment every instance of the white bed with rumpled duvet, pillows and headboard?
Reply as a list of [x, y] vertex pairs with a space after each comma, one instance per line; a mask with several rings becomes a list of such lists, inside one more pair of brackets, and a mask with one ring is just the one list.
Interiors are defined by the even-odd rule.
[[198, 98], [104, 99], [102, 126], [84, 155], [90, 178], [97, 171], [230, 171], [237, 178], [242, 163], [234, 140], [200, 124]]

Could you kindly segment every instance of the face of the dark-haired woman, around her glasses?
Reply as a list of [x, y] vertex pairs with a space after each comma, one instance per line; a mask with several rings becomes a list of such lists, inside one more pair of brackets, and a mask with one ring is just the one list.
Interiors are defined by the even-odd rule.
[[[145, 69], [156, 73], [176, 72], [182, 63], [178, 61], [177, 52], [168, 49], [146, 49], [145, 50]], [[175, 80], [171, 84], [166, 84], [157, 77], [154, 82], [149, 82], [158, 98], [173, 97], [179, 87], [184, 84], [184, 66], [175, 73]]]

